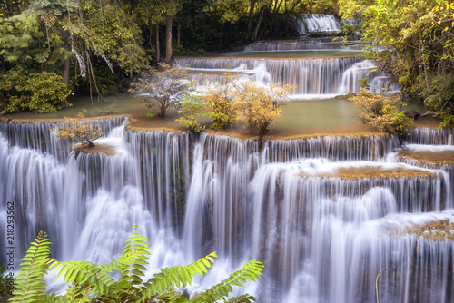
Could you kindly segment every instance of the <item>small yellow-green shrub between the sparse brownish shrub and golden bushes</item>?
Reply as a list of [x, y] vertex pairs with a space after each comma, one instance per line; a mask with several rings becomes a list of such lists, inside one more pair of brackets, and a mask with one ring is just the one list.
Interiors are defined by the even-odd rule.
[[202, 132], [205, 125], [199, 119], [207, 115], [206, 103], [199, 97], [199, 93], [195, 91], [196, 83], [192, 80], [189, 85], [190, 89], [183, 93], [183, 99], [176, 103], [180, 107], [178, 113], [183, 113], [183, 116], [176, 121], [183, 124], [191, 132]]

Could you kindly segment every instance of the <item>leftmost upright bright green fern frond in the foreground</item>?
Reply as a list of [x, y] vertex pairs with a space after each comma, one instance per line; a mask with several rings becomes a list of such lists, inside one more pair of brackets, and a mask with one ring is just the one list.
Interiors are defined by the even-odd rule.
[[37, 238], [32, 242], [22, 259], [21, 269], [15, 279], [15, 290], [9, 302], [35, 302], [36, 299], [44, 296], [45, 280], [44, 275], [48, 266], [47, 257], [50, 255], [52, 244], [44, 231], [40, 231]]

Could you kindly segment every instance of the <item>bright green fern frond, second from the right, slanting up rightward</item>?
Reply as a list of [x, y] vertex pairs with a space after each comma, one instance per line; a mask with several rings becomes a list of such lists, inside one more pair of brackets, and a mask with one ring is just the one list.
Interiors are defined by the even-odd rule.
[[175, 266], [173, 268], [163, 268], [161, 272], [154, 274], [152, 279], [145, 283], [146, 289], [139, 302], [146, 302], [153, 296], [161, 293], [171, 293], [174, 288], [185, 288], [192, 283], [192, 277], [199, 274], [203, 276], [212, 268], [212, 263], [217, 257], [216, 252], [208, 254], [206, 257], [199, 259], [186, 266]]

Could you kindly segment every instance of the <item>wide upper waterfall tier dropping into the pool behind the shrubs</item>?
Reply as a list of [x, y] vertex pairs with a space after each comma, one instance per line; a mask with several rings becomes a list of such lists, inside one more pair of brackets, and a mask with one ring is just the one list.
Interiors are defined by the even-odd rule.
[[[313, 59], [260, 59], [260, 58], [191, 58], [176, 59], [176, 64], [193, 69], [218, 73], [246, 73], [254, 81], [296, 85], [296, 94], [344, 94], [360, 91], [358, 80], [369, 77], [371, 89], [399, 90], [396, 85], [380, 81], [381, 74], [370, 73], [375, 67], [370, 61], [357, 57]], [[197, 76], [194, 76], [198, 79]], [[271, 78], [271, 80], [267, 80]], [[197, 80], [196, 79], [196, 80]], [[383, 87], [385, 86], [385, 87]]]

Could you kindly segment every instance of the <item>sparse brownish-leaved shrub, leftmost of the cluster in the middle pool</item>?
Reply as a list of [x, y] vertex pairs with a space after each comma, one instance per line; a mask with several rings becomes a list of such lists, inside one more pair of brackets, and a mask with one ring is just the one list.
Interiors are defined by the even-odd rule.
[[[131, 83], [130, 93], [136, 93], [146, 107], [158, 106], [158, 117], [165, 117], [167, 109], [182, 99], [188, 89], [187, 72], [177, 66], [159, 64], [159, 69], [147, 66], [138, 79]], [[147, 114], [153, 117], [153, 113]]]

